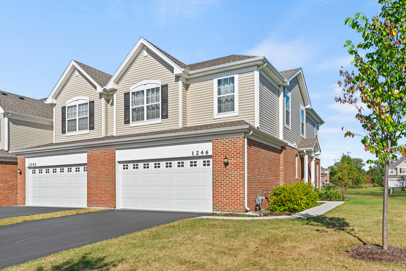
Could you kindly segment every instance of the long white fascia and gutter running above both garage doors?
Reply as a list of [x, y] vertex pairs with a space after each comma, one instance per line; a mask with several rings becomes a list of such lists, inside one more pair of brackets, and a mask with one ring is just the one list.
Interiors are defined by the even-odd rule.
[[140, 144], [145, 142], [151, 141], [163, 141], [168, 139], [173, 139], [179, 141], [187, 140], [196, 141], [197, 137], [204, 137], [204, 140], [207, 140], [207, 136], [210, 139], [220, 139], [225, 137], [231, 137], [231, 135], [236, 136], [236, 133], [240, 133], [240, 136], [244, 136], [244, 132], [248, 133], [250, 130], [253, 130], [255, 133], [254, 136], [259, 137], [261, 139], [267, 140], [272, 144], [284, 146], [287, 143], [285, 141], [279, 140], [265, 132], [257, 130], [251, 125], [244, 125], [244, 126], [235, 126], [235, 127], [227, 127], [227, 128], [217, 128], [217, 129], [210, 129], [210, 130], [201, 130], [201, 131], [191, 131], [191, 132], [181, 132], [181, 133], [173, 133], [173, 134], [159, 134], [155, 136], [144, 136], [144, 137], [133, 137], [133, 138], [124, 138], [124, 139], [111, 139], [111, 140], [104, 140], [104, 141], [95, 141], [95, 142], [85, 142], [85, 143], [76, 143], [76, 144], [67, 144], [67, 145], [58, 145], [58, 146], [51, 146], [51, 147], [41, 147], [41, 148], [32, 148], [32, 149], [24, 149], [24, 150], [15, 150], [10, 153], [16, 154], [17, 156], [26, 156], [26, 154], [38, 155], [38, 153], [45, 153], [49, 154], [50, 152], [56, 151], [60, 153], [60, 151], [64, 152], [76, 152], [89, 150], [89, 148], [93, 148], [95, 150], [100, 150], [106, 148], [120, 148], [128, 146], [134, 146], [134, 144]]

